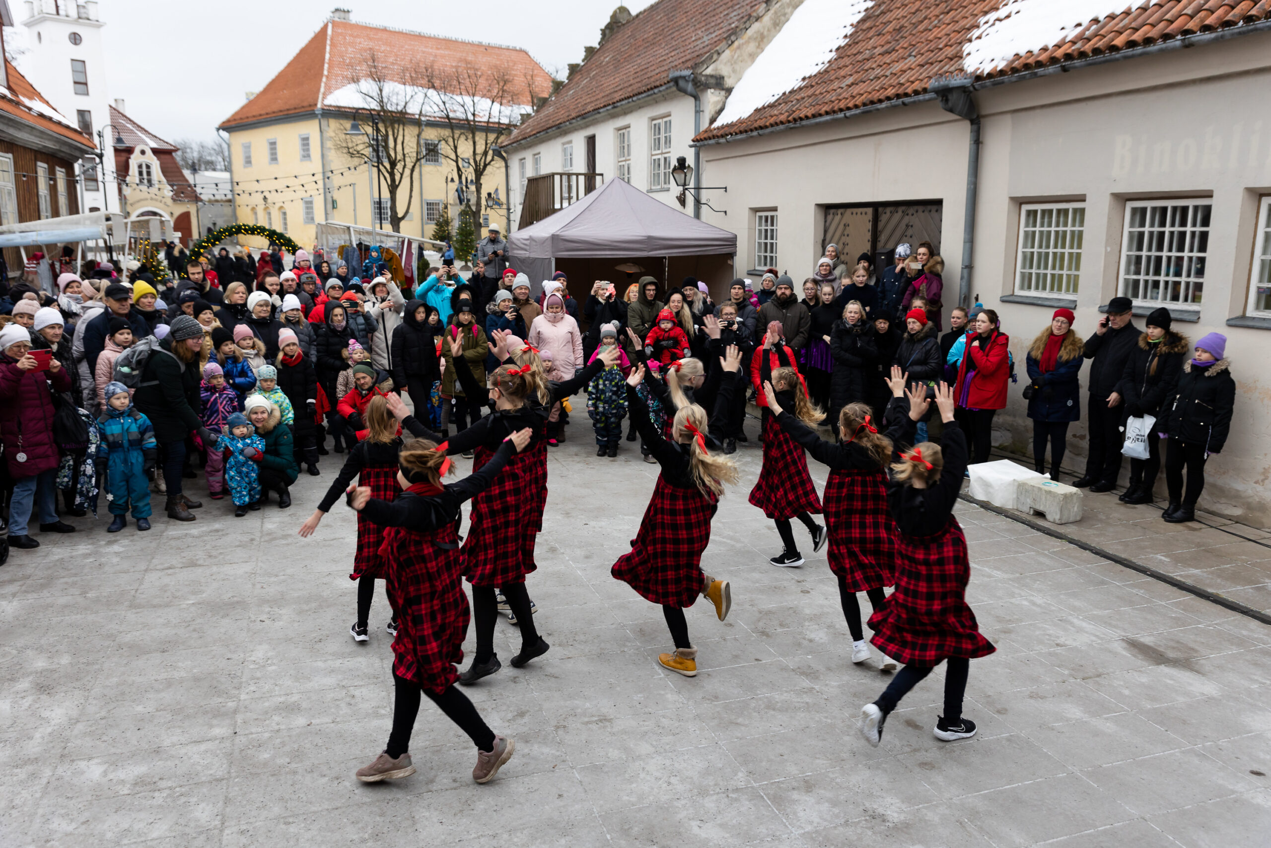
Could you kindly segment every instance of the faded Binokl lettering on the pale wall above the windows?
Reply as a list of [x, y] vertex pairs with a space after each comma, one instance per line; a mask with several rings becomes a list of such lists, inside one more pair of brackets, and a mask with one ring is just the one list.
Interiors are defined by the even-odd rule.
[[[1199, 130], [1199, 127], [1197, 127]], [[1271, 145], [1262, 140], [1262, 122], [1205, 127], [1201, 135], [1162, 139], [1159, 135], [1112, 137], [1112, 175], [1191, 173], [1195, 170], [1271, 169]]]

